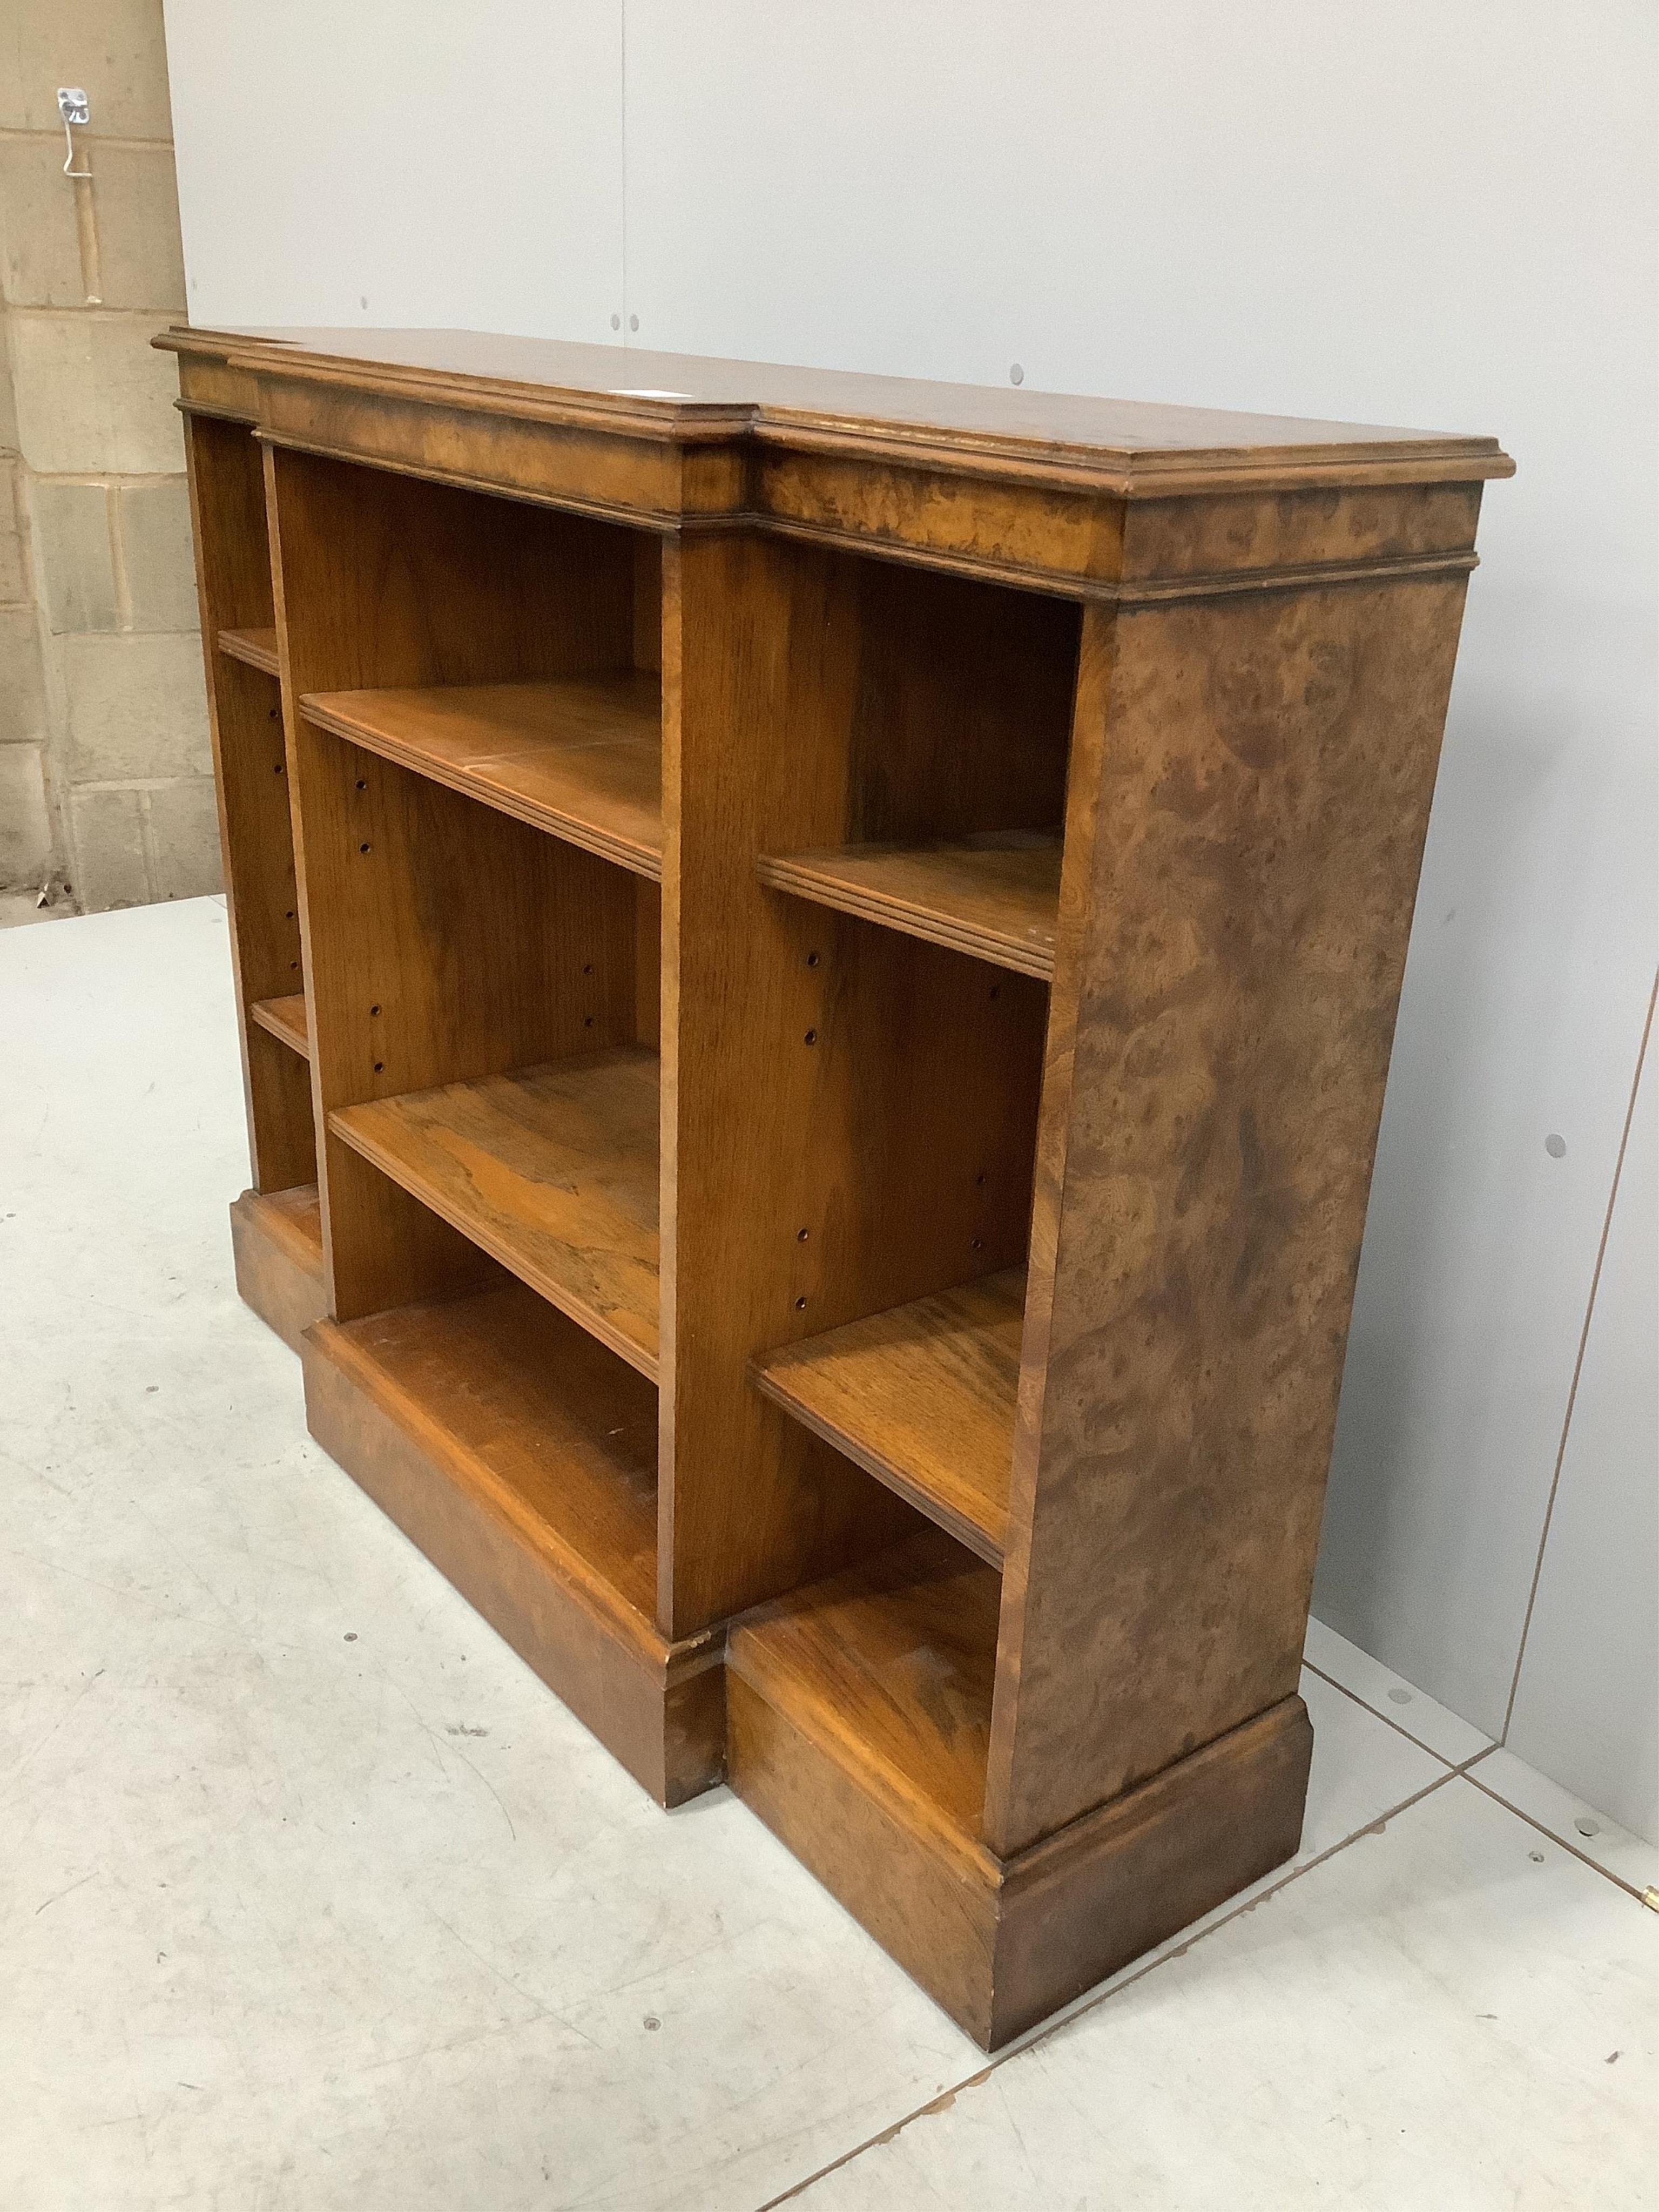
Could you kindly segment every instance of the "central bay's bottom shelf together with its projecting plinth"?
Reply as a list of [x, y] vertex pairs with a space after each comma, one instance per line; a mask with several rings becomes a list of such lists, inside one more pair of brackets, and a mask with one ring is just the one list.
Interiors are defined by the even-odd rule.
[[661, 1805], [723, 1772], [721, 1637], [668, 1644], [657, 1391], [513, 1281], [305, 1336], [312, 1436]]

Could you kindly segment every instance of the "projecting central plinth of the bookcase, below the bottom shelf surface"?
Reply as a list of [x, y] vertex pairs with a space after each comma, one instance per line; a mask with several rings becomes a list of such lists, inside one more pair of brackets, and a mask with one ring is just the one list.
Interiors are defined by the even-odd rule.
[[549, 1528], [529, 1528], [465, 1455], [358, 1367], [332, 1321], [305, 1332], [305, 1418], [316, 1442], [440, 1575], [513, 1646], [659, 1803], [726, 1772], [723, 1639], [668, 1644], [606, 1601]]

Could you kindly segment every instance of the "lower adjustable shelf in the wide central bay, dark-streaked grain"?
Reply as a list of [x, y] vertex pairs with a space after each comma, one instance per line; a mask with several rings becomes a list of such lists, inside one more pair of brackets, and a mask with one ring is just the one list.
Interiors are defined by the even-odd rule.
[[639, 1044], [341, 1106], [330, 1130], [657, 1378], [659, 1062]]

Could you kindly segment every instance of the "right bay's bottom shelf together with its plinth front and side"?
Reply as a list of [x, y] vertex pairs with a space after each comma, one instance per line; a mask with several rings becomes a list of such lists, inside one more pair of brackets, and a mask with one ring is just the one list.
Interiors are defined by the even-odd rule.
[[737, 1796], [987, 2051], [1296, 1849], [1298, 1697], [1000, 1858], [980, 1838], [998, 1575], [945, 1535], [734, 1624]]

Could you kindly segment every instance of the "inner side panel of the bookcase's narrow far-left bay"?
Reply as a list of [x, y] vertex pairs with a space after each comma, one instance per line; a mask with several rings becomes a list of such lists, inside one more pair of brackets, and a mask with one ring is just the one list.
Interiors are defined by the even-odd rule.
[[254, 1190], [288, 1190], [316, 1177], [310, 1079], [296, 1053], [250, 1022], [259, 1000], [301, 989], [283, 710], [268, 675], [219, 653], [221, 628], [265, 628], [272, 619], [265, 482], [243, 422], [188, 414], [186, 462], [248, 1152]]

